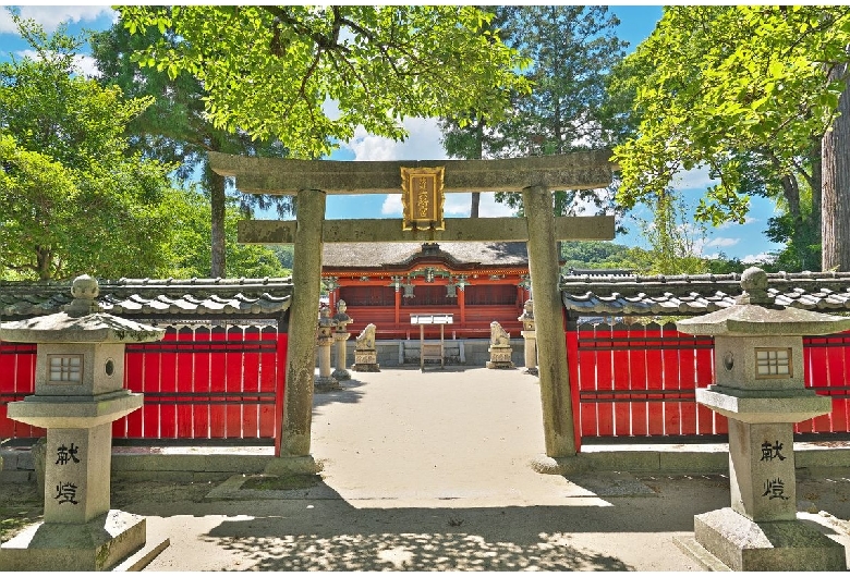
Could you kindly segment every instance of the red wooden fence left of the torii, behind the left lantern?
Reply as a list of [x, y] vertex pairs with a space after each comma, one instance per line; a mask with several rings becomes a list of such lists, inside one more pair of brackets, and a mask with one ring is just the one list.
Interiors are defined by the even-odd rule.
[[[35, 352], [35, 345], [0, 343], [0, 438], [45, 434], [5, 416], [5, 403], [33, 394]], [[161, 341], [130, 344], [124, 386], [144, 393], [145, 401], [113, 422], [112, 434], [274, 440], [286, 354], [287, 334], [274, 327], [169, 329]]]

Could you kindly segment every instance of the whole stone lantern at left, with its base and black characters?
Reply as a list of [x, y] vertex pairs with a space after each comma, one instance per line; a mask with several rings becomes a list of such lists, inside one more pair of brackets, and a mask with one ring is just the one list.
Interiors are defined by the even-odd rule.
[[97, 281], [74, 280], [63, 312], [0, 326], [0, 339], [37, 343], [35, 394], [9, 404], [14, 420], [47, 429], [44, 521], [0, 548], [0, 570], [101, 570], [145, 545], [145, 518], [110, 508], [112, 421], [142, 406], [124, 385], [124, 345], [165, 329], [101, 311]]

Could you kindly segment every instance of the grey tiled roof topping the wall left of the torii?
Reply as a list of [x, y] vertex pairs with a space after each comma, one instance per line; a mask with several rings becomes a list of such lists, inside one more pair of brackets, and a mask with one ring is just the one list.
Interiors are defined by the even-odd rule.
[[[104, 312], [145, 319], [279, 318], [291, 279], [120, 279], [99, 282]], [[71, 281], [0, 282], [0, 319], [52, 315], [71, 300]]]

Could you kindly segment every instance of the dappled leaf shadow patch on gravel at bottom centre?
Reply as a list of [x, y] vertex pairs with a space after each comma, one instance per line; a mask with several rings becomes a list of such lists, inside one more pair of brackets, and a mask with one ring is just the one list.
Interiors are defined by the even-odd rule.
[[[536, 508], [356, 511], [343, 532], [293, 518], [226, 520], [205, 539], [264, 572], [633, 570], [573, 547], [544, 519], [511, 527]], [[563, 512], [544, 517], [552, 514]]]

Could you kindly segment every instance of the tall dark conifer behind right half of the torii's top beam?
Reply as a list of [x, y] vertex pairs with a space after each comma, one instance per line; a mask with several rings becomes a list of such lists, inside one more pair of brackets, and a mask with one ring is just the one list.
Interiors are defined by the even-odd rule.
[[[444, 146], [456, 158], [509, 158], [562, 155], [612, 146], [623, 128], [623, 116], [608, 98], [610, 69], [624, 54], [626, 42], [615, 30], [619, 21], [606, 7], [495, 7], [490, 23], [511, 48], [529, 62], [523, 73], [531, 93], [512, 93], [511, 112], [494, 118], [486, 110], [469, 110], [444, 119]], [[572, 214], [585, 204], [612, 211], [612, 195], [593, 191], [556, 191], [557, 214]], [[518, 210], [518, 193], [498, 193], [496, 199]]]

